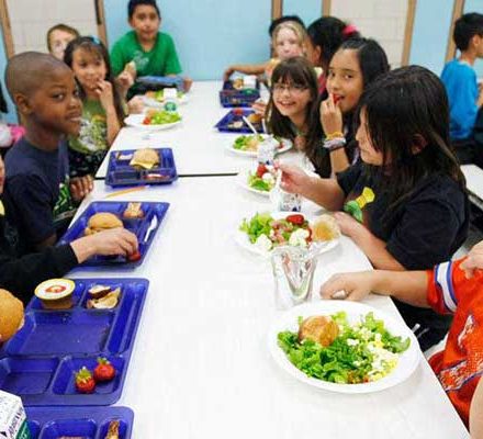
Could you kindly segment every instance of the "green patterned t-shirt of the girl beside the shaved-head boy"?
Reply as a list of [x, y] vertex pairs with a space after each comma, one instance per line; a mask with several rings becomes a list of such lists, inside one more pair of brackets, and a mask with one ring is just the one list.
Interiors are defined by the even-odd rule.
[[78, 137], [69, 139], [69, 147], [82, 154], [92, 154], [109, 148], [108, 121], [100, 101], [83, 102], [80, 133]]

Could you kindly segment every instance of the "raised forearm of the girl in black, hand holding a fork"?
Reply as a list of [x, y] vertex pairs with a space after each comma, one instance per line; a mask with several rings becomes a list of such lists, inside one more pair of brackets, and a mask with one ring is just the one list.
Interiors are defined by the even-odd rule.
[[299, 193], [328, 211], [340, 211], [346, 198], [337, 180], [310, 177], [301, 168], [278, 164], [282, 170], [281, 188], [290, 193]]

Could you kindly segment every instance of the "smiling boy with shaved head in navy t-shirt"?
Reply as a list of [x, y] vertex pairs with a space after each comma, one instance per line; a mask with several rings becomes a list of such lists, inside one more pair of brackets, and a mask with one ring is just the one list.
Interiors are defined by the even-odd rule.
[[5, 198], [27, 252], [56, 243], [75, 213], [74, 201], [92, 190], [92, 180], [68, 178], [63, 139], [79, 133], [82, 106], [67, 65], [26, 52], [10, 59], [5, 83], [26, 130], [5, 158]]

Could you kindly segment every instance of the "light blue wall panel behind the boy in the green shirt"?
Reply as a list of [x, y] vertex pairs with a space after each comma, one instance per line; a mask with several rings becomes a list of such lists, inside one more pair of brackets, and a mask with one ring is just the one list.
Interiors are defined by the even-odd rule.
[[[128, 31], [126, 8], [104, 0], [108, 38], [112, 44]], [[217, 79], [235, 63], [261, 63], [269, 57], [271, 2], [245, 0], [164, 0], [161, 30], [176, 43], [183, 72], [193, 79]], [[189, 11], [187, 13], [187, 11]]]

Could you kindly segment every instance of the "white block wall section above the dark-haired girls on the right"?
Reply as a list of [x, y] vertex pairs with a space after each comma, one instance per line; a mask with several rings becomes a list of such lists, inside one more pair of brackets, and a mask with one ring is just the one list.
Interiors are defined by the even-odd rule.
[[348, 21], [363, 36], [377, 40], [392, 68], [401, 66], [407, 0], [332, 0], [330, 15]]

